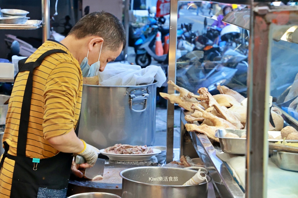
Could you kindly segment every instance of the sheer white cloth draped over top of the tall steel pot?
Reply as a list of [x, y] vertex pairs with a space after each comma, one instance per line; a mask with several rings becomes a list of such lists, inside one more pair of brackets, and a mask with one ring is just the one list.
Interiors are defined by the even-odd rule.
[[135, 86], [151, 84], [157, 81], [161, 87], [167, 80], [164, 71], [160, 66], [149, 65], [141, 68], [138, 65], [122, 63], [109, 63], [103, 72], [98, 73], [99, 84], [104, 86]]

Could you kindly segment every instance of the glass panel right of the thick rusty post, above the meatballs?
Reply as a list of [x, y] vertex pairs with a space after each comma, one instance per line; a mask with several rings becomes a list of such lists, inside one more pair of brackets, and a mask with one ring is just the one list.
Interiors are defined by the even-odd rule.
[[298, 128], [298, 19], [283, 26], [272, 24], [271, 31], [271, 96], [277, 98], [274, 105], [283, 111], [285, 121]]

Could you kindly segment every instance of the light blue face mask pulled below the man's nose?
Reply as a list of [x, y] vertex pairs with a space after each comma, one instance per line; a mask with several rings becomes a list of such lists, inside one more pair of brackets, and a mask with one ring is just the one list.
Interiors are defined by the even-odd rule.
[[88, 54], [89, 54], [89, 49], [88, 49], [87, 56], [83, 59], [83, 61], [80, 64], [80, 68], [82, 70], [83, 77], [92, 77], [92, 76], [96, 76], [98, 74], [98, 71], [100, 69], [99, 58], [100, 58], [102, 47], [103, 47], [103, 44], [101, 44], [101, 47], [100, 47], [98, 61], [93, 63], [91, 66], [88, 64]]

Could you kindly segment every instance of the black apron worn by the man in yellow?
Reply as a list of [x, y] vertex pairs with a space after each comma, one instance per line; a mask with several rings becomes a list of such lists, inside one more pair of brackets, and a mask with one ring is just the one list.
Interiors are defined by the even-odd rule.
[[[3, 165], [5, 157], [15, 161], [11, 184], [11, 198], [65, 198], [70, 177], [72, 153], [58, 153], [46, 159], [26, 157], [27, 130], [30, 116], [32, 95], [33, 69], [41, 65], [46, 56], [52, 53], [66, 53], [63, 50], [49, 50], [42, 54], [35, 62], [25, 63], [27, 59], [19, 61], [19, 72], [30, 71], [24, 91], [21, 109], [20, 126], [17, 143], [17, 156], [7, 153], [9, 145], [3, 142], [5, 152], [0, 162]], [[80, 119], [75, 129], [78, 134]], [[39, 162], [38, 162], [39, 161]], [[37, 163], [38, 162], [38, 163]]]

